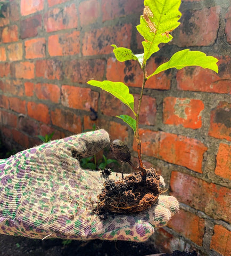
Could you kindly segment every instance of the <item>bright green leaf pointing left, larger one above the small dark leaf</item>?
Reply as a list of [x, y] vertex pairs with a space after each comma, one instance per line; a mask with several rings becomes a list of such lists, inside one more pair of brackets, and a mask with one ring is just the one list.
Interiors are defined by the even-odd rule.
[[87, 83], [96, 87], [100, 87], [104, 91], [111, 93], [112, 95], [114, 95], [114, 97], [121, 100], [125, 105], [127, 105], [135, 114], [134, 97], [132, 94], [129, 93], [129, 88], [124, 83], [111, 81], [101, 82], [96, 80], [90, 80]]

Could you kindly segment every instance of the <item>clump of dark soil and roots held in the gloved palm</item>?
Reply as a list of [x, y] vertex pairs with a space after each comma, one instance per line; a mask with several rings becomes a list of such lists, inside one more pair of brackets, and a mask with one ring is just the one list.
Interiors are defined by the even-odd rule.
[[98, 195], [96, 213], [141, 212], [153, 205], [161, 193], [160, 175], [153, 168], [146, 170], [145, 181], [141, 172], [133, 172], [118, 181], [108, 179]]

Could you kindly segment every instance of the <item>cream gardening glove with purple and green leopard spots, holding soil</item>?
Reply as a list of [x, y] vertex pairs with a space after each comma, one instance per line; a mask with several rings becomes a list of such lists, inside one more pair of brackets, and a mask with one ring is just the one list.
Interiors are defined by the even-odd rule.
[[159, 196], [149, 210], [136, 214], [111, 214], [103, 220], [94, 213], [104, 175], [81, 169], [78, 159], [96, 154], [108, 143], [108, 133], [98, 130], [1, 159], [0, 233], [142, 242], [155, 227], [165, 226], [178, 209], [172, 196]]

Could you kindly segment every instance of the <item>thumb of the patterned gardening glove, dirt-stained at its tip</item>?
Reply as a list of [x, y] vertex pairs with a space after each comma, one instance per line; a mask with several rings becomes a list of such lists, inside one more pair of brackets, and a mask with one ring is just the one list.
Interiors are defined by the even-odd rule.
[[108, 132], [100, 129], [61, 139], [57, 141], [57, 147], [70, 149], [72, 156], [76, 158], [85, 158], [95, 155], [98, 151], [108, 146], [109, 142]]

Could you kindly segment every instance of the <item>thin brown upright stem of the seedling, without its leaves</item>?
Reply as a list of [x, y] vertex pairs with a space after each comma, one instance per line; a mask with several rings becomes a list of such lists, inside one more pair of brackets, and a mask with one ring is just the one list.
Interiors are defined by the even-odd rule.
[[136, 134], [135, 134], [135, 138], [136, 138], [136, 141], [137, 141], [138, 161], [139, 161], [139, 167], [140, 167], [141, 172], [142, 172], [142, 177], [146, 176], [146, 171], [144, 169], [144, 165], [143, 165], [143, 161], [142, 161], [141, 140], [139, 138], [139, 113], [141, 111], [141, 103], [142, 103], [142, 98], [143, 98], [143, 93], [144, 93], [144, 85], [147, 81], [145, 68], [146, 68], [146, 64], [144, 64], [143, 67], [142, 67], [143, 83], [142, 83], [142, 87], [141, 87], [141, 95], [139, 97], [138, 108], [137, 108], [137, 113], [136, 113]]

